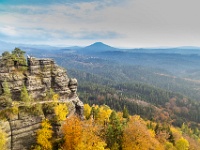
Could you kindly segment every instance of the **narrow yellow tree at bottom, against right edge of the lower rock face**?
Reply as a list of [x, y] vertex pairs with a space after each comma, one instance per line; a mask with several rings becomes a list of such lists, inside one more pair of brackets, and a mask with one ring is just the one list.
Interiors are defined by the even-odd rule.
[[37, 131], [37, 144], [35, 149], [41, 150], [51, 150], [52, 143], [50, 139], [52, 138], [52, 126], [47, 119], [45, 119], [42, 124], [42, 128]]

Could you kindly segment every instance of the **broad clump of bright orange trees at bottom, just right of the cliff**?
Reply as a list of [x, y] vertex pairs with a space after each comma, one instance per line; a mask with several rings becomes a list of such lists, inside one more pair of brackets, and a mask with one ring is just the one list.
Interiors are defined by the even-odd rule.
[[78, 117], [67, 118], [63, 124], [65, 150], [104, 150], [106, 143], [100, 136], [99, 126], [91, 120], [80, 121]]

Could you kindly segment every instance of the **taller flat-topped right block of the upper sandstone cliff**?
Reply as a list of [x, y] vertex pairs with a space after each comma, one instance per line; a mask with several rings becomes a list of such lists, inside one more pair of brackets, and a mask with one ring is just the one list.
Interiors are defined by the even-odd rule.
[[29, 74], [26, 85], [33, 98], [44, 97], [50, 88], [59, 93], [60, 99], [66, 100], [71, 93], [66, 71], [57, 66], [52, 59], [28, 58]]

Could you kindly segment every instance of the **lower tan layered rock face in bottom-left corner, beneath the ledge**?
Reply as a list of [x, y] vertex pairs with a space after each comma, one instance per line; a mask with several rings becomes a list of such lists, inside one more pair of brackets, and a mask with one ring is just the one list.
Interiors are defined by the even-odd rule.
[[15, 116], [9, 120], [1, 120], [0, 126], [7, 134], [7, 149], [30, 149], [36, 143], [36, 132], [44, 118], [44, 114], [32, 115], [19, 108]]

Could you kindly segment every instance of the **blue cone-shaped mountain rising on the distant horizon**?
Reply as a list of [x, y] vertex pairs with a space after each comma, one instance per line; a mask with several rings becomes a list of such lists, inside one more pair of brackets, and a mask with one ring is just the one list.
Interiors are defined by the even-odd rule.
[[99, 53], [99, 52], [118, 51], [118, 50], [120, 50], [120, 49], [111, 47], [111, 46], [106, 45], [102, 42], [96, 42], [92, 45], [89, 45], [89, 46], [86, 46], [82, 49], [79, 49], [78, 52], [87, 54], [87, 53]]

